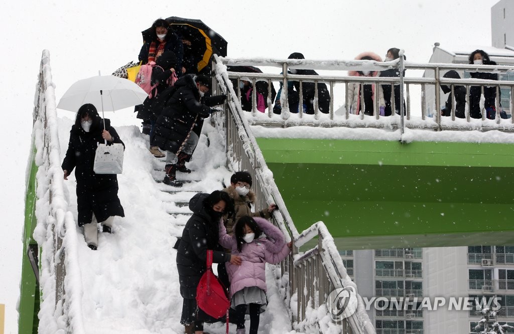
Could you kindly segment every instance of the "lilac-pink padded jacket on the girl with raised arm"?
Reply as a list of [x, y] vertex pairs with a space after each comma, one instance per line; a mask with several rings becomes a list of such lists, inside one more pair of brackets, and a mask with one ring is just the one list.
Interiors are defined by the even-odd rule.
[[278, 264], [290, 249], [285, 243], [284, 234], [271, 222], [264, 218], [256, 217], [255, 222], [264, 232], [251, 243], [245, 243], [241, 252], [237, 250], [235, 236], [228, 235], [223, 223], [219, 226], [219, 243], [232, 250], [232, 254], [241, 256], [241, 266], [227, 263], [227, 273], [230, 279], [230, 297], [245, 287], [258, 287], [267, 290], [266, 287], [266, 263]]

